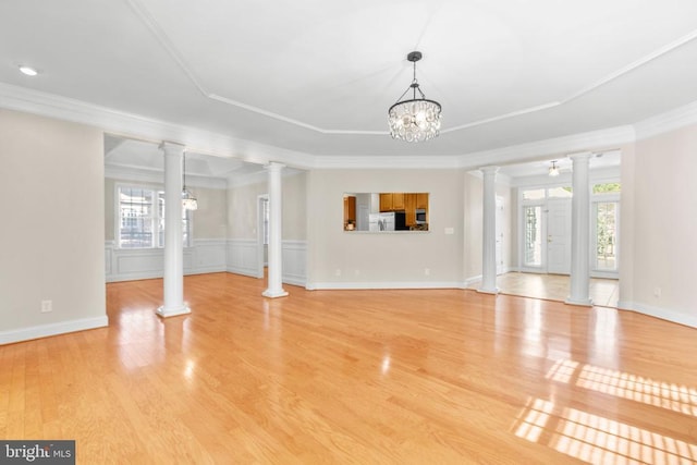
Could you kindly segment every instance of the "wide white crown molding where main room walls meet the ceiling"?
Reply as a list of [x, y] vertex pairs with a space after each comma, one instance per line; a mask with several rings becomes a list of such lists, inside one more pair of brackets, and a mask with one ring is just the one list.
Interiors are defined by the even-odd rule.
[[395, 167], [477, 169], [487, 164], [510, 164], [516, 161], [535, 160], [578, 150], [616, 148], [623, 144], [633, 143], [637, 138], [647, 138], [686, 125], [697, 124], [696, 101], [643, 120], [634, 125], [611, 127], [458, 156], [313, 156], [156, 121], [4, 83], [0, 83], [0, 108], [96, 126], [107, 133], [127, 138], [140, 138], [152, 143], [162, 140], [175, 142], [186, 146], [187, 151], [197, 154], [235, 158], [258, 164], [279, 161], [289, 167], [299, 169]]

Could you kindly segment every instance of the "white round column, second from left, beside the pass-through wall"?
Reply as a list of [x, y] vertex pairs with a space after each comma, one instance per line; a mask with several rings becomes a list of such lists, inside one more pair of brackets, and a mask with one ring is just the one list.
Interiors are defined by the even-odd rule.
[[281, 222], [283, 221], [281, 200], [281, 172], [284, 164], [269, 163], [266, 169], [269, 171], [269, 283], [261, 294], [265, 297], [283, 297], [288, 292], [283, 290], [283, 264], [282, 264], [282, 241], [283, 234]]

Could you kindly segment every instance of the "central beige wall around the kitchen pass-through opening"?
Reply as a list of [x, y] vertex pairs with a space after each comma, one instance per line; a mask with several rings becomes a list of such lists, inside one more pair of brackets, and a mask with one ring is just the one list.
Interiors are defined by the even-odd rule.
[[[462, 283], [463, 172], [316, 170], [307, 174], [307, 281]], [[343, 231], [343, 194], [427, 192], [427, 233]], [[453, 234], [445, 234], [452, 228]], [[426, 274], [426, 269], [429, 274]], [[338, 273], [341, 273], [338, 276]]]

